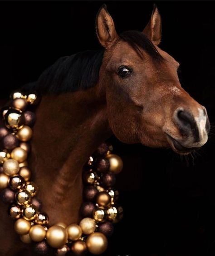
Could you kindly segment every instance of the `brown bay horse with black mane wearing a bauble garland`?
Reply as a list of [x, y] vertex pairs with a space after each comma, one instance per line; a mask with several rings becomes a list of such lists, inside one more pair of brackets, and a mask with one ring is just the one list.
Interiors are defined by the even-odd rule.
[[[156, 7], [143, 32], [118, 35], [103, 6], [96, 30], [104, 50], [62, 58], [34, 84], [42, 98], [30, 168], [50, 224], [78, 222], [83, 165], [112, 134], [124, 143], [171, 147], [180, 154], [208, 138], [205, 108], [181, 88], [178, 62], [158, 47]], [[33, 255], [2, 203], [0, 209], [0, 255]]]

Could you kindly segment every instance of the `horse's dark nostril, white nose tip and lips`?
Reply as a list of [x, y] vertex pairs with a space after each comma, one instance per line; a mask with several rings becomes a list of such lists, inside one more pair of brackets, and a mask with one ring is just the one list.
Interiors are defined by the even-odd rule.
[[179, 154], [189, 154], [202, 147], [208, 140], [210, 123], [205, 107], [198, 108], [198, 115], [184, 108], [177, 108], [173, 114], [173, 121], [180, 137], [165, 132], [171, 148]]

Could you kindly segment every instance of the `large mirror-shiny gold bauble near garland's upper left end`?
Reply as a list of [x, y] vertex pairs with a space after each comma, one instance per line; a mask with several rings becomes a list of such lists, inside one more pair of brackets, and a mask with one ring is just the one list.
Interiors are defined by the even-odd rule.
[[24, 114], [22, 111], [10, 108], [5, 113], [5, 125], [10, 129], [20, 129], [24, 125]]

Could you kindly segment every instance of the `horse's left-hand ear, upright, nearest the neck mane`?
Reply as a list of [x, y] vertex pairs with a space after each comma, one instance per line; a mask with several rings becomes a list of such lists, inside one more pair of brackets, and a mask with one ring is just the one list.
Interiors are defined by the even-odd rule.
[[96, 33], [100, 44], [106, 49], [110, 48], [118, 38], [111, 15], [106, 5], [102, 5], [96, 16]]

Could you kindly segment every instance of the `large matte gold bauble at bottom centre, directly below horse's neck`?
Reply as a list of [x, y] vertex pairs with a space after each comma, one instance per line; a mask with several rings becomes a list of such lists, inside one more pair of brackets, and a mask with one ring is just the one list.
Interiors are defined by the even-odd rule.
[[47, 243], [54, 247], [60, 248], [64, 246], [68, 239], [68, 234], [62, 226], [51, 226], [46, 233], [46, 241]]

